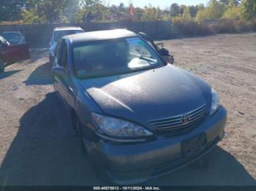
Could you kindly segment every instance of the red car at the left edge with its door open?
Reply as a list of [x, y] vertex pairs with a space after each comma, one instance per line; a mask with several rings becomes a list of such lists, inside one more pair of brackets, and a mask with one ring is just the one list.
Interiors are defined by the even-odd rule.
[[10, 44], [3, 36], [0, 36], [0, 73], [4, 72], [5, 66], [29, 58], [28, 44]]

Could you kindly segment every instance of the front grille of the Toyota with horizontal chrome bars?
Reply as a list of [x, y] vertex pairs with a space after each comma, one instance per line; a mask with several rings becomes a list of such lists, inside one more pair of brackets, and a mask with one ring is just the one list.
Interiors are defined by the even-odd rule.
[[[187, 112], [186, 114], [179, 114], [173, 117], [167, 117], [159, 120], [151, 120], [148, 123], [153, 125], [159, 133], [181, 133], [192, 129], [199, 122], [203, 120], [203, 117], [206, 115], [206, 105], [200, 106], [199, 108]], [[181, 120], [181, 117], [189, 116], [189, 120], [184, 122]]]

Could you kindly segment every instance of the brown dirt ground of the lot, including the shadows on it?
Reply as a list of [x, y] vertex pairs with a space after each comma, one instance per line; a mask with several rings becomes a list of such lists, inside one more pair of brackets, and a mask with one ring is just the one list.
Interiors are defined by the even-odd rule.
[[[165, 41], [175, 65], [214, 87], [226, 137], [206, 157], [151, 185], [256, 185], [256, 34]], [[0, 185], [99, 185], [53, 93], [48, 50], [0, 75]]]

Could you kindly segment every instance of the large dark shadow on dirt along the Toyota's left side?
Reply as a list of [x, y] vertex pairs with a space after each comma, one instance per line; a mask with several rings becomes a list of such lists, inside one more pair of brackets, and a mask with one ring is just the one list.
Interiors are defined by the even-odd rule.
[[98, 184], [55, 93], [20, 118], [0, 168], [1, 185]]

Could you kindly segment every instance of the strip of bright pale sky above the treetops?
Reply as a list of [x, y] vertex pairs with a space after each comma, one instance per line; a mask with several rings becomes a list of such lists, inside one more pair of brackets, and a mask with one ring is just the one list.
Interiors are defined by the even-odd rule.
[[[105, 4], [120, 4], [124, 3], [125, 5], [129, 4], [129, 0], [103, 0]], [[197, 4], [207, 4], [208, 0], [133, 0], [132, 1], [135, 7], [144, 7], [145, 5], [151, 4], [154, 7], [170, 7], [170, 4], [186, 4], [186, 5], [197, 5]]]

